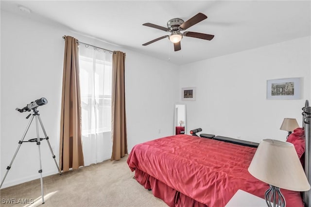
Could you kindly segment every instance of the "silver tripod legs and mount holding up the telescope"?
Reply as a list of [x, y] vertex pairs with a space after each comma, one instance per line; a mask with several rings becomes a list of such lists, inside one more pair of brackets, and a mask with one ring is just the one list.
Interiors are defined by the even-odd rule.
[[[45, 132], [45, 129], [44, 129], [43, 123], [42, 123], [42, 121], [41, 121], [40, 115], [38, 114], [38, 111], [37, 111], [36, 108], [34, 108], [33, 110], [34, 110], [34, 114], [33, 114], [32, 118], [30, 119], [30, 121], [29, 121], [29, 123], [28, 123], [28, 125], [27, 125], [27, 128], [26, 128], [26, 130], [25, 130], [25, 132], [24, 132], [24, 135], [23, 135], [22, 139], [18, 142], [17, 150], [16, 150], [16, 152], [15, 152], [13, 158], [12, 158], [12, 161], [11, 161], [10, 165], [6, 168], [7, 171], [6, 171], [4, 177], [3, 177], [2, 181], [1, 181], [0, 188], [2, 187], [2, 184], [3, 184], [3, 182], [4, 182], [4, 179], [6, 178], [6, 175], [8, 174], [9, 170], [11, 169], [11, 166], [12, 166], [12, 164], [13, 164], [13, 161], [14, 161], [16, 155], [17, 155], [17, 152], [18, 152], [18, 150], [19, 150], [21, 144], [24, 143], [24, 142], [35, 142], [35, 143], [37, 144], [38, 150], [39, 150], [39, 164], [40, 164], [39, 173], [40, 173], [40, 182], [41, 182], [41, 197], [42, 197], [42, 204], [44, 204], [43, 179], [42, 179], [42, 167], [41, 167], [41, 150], [40, 150], [40, 144], [41, 144], [41, 141], [42, 141], [43, 139], [47, 140], [47, 142], [48, 142], [48, 145], [49, 145], [49, 147], [50, 147], [50, 150], [51, 150], [51, 153], [52, 153], [52, 157], [53, 157], [53, 159], [54, 159], [54, 161], [55, 161], [55, 164], [56, 164], [56, 167], [57, 167], [58, 172], [59, 172], [59, 167], [58, 167], [58, 164], [57, 164], [57, 162], [56, 162], [56, 160], [55, 160], [55, 155], [53, 154], [52, 147], [51, 147], [51, 144], [50, 144], [50, 142], [49, 142], [49, 137], [47, 136], [47, 134], [46, 134], [46, 132]], [[31, 116], [31, 114], [29, 114], [29, 115], [26, 117], [26, 119], [28, 119], [30, 116]], [[37, 138], [33, 138], [33, 139], [29, 139], [28, 141], [24, 141], [24, 138], [25, 138], [25, 136], [26, 136], [26, 134], [27, 134], [27, 132], [28, 132], [28, 130], [29, 130], [29, 128], [30, 128], [31, 123], [32, 123], [33, 120], [34, 120], [34, 118], [35, 118], [35, 127], [36, 127]], [[39, 136], [38, 122], [39, 122], [40, 125], [41, 125], [41, 128], [42, 128], [42, 130], [43, 130], [43, 133], [44, 133], [45, 138], [40, 138], [40, 136]]]

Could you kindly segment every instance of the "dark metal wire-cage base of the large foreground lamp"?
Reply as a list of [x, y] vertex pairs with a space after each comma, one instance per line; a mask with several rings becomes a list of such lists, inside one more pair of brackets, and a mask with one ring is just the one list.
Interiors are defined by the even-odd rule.
[[[264, 193], [264, 198], [268, 207], [285, 207], [285, 198], [278, 187], [270, 185], [270, 188]], [[271, 199], [273, 205], [271, 204]]]

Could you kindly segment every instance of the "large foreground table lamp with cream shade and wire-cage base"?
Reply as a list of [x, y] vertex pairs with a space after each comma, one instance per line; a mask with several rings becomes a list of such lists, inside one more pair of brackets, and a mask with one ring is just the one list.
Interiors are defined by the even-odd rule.
[[299, 161], [294, 145], [289, 142], [263, 139], [248, 167], [248, 172], [268, 183], [265, 192], [268, 207], [285, 207], [285, 198], [280, 188], [294, 191], [310, 190], [310, 184]]

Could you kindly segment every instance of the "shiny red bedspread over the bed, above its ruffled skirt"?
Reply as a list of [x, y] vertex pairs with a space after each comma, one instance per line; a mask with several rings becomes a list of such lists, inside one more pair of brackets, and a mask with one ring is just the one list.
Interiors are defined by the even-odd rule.
[[[202, 204], [224, 207], [239, 189], [264, 198], [268, 184], [247, 170], [255, 151], [213, 139], [176, 135], [134, 146], [127, 163], [132, 171], [137, 168]], [[287, 207], [303, 207], [300, 192], [281, 192]]]

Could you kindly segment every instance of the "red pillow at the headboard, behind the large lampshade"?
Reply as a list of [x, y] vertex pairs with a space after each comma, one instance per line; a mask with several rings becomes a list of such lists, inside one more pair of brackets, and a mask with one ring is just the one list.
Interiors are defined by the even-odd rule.
[[304, 128], [294, 129], [294, 132], [290, 134], [290, 136], [288, 136], [288, 139], [286, 141], [294, 144], [294, 147], [300, 159], [300, 162], [302, 166], [304, 166], [305, 160], [304, 160], [303, 155], [305, 153], [305, 147], [306, 147]]

